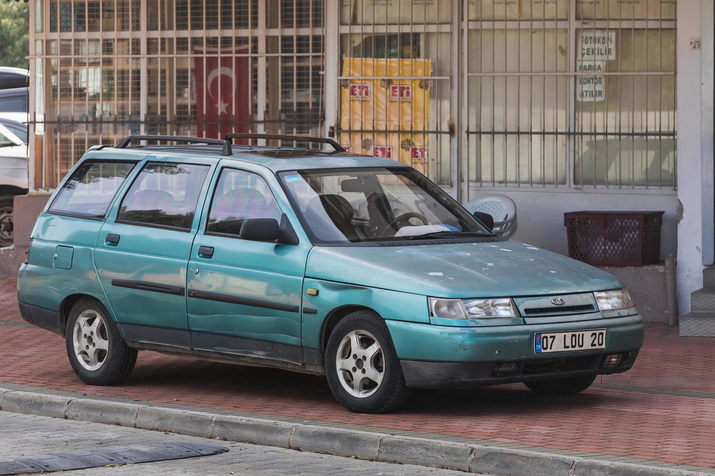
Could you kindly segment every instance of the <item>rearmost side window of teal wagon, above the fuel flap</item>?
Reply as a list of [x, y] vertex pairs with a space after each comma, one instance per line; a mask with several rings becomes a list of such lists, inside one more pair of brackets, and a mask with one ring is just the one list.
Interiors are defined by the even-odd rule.
[[135, 162], [85, 162], [72, 173], [49, 208], [50, 213], [104, 218], [114, 194]]

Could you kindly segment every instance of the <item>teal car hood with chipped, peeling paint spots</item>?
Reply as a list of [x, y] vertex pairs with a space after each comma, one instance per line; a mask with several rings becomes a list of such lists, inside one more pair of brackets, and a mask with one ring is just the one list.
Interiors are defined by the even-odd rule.
[[403, 246], [315, 246], [307, 277], [440, 298], [580, 293], [623, 287], [566, 256], [508, 240]]

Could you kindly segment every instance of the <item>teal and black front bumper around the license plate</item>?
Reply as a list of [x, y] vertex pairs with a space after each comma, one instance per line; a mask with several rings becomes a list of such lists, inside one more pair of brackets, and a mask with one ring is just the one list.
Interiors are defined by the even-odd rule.
[[[621, 373], [643, 345], [643, 318], [599, 318], [573, 323], [453, 328], [387, 321], [411, 388], [467, 388], [579, 375]], [[603, 329], [606, 348], [535, 354], [535, 333]], [[606, 355], [620, 354], [607, 366]]]

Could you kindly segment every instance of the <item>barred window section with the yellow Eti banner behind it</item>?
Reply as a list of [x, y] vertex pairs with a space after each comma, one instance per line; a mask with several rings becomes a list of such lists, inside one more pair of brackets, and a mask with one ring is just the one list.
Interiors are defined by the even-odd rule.
[[458, 56], [450, 0], [340, 2], [340, 143], [449, 184]]

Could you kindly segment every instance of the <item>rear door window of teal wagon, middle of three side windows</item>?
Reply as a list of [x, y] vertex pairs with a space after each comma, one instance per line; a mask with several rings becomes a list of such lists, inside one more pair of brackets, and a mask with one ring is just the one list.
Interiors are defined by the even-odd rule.
[[209, 166], [147, 163], [127, 191], [117, 221], [191, 228]]

